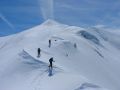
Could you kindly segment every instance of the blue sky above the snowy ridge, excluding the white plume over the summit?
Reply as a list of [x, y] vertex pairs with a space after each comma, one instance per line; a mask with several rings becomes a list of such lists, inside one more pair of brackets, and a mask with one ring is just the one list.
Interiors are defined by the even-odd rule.
[[[44, 22], [42, 1], [45, 0], [0, 0], [0, 36], [21, 32]], [[53, 2], [54, 19], [61, 23], [82, 27], [94, 25], [120, 27], [120, 0], [53, 0]], [[44, 7], [47, 6], [44, 4]], [[45, 9], [50, 10], [48, 7]]]

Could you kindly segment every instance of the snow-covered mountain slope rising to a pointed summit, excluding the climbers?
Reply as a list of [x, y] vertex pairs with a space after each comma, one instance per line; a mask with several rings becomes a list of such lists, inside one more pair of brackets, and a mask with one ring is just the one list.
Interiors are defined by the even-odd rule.
[[[0, 37], [0, 90], [120, 90], [118, 33], [48, 20]], [[55, 60], [53, 71], [48, 68], [50, 57]]]

